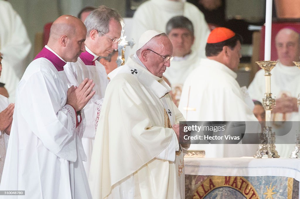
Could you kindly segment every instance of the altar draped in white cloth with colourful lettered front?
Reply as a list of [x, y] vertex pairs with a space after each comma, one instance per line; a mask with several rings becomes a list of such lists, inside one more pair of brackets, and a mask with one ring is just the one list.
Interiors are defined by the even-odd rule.
[[300, 199], [300, 160], [184, 158], [186, 199]]

